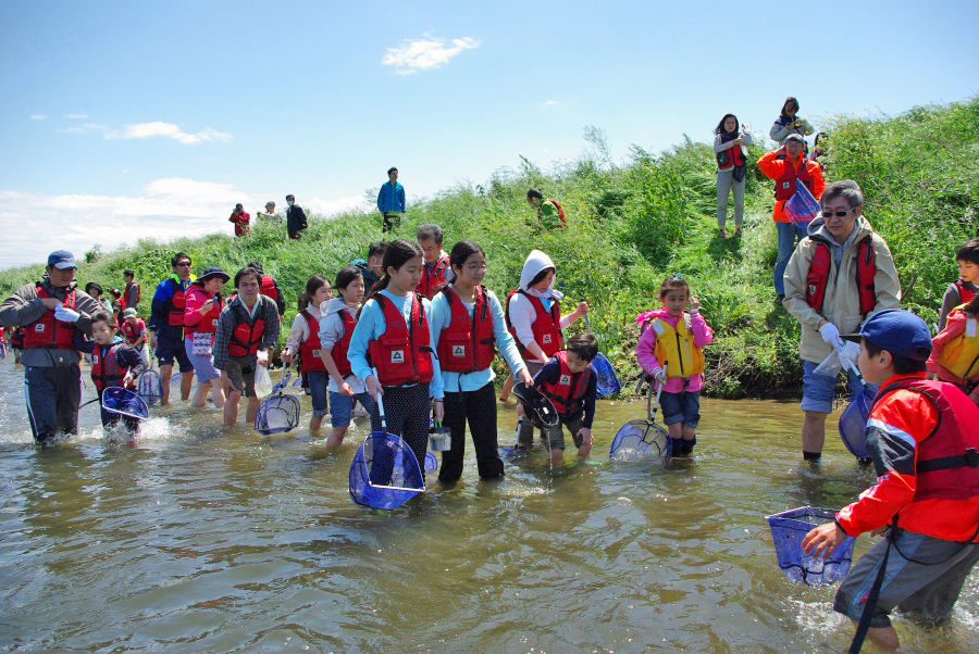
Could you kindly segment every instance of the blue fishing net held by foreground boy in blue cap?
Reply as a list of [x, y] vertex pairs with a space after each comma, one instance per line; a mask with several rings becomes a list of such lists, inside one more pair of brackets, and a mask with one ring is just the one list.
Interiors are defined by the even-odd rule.
[[792, 511], [768, 516], [771, 538], [776, 544], [779, 567], [793, 581], [803, 581], [809, 586], [833, 583], [846, 576], [853, 561], [853, 546], [856, 539], [847, 537], [839, 548], [823, 559], [808, 556], [802, 549], [802, 541], [814, 527], [832, 523], [837, 512], [831, 508], [801, 506]]

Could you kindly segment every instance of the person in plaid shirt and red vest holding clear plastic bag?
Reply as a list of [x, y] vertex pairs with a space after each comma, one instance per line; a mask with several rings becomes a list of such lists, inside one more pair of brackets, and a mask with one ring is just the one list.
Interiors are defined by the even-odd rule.
[[238, 401], [248, 398], [245, 419], [255, 422], [259, 399], [255, 392], [257, 366], [269, 365], [269, 350], [278, 342], [278, 310], [271, 298], [263, 295], [261, 275], [255, 268], [241, 268], [235, 275], [238, 294], [231, 299], [214, 336], [214, 367], [221, 370], [221, 383], [227, 394], [224, 424], [238, 422]]

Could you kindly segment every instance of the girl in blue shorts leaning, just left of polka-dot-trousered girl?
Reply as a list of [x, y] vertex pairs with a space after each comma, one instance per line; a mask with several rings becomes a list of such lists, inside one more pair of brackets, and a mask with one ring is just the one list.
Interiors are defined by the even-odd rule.
[[326, 304], [320, 318], [320, 360], [330, 377], [330, 424], [333, 430], [326, 438], [326, 445], [335, 448], [344, 442], [350, 426], [354, 401], [360, 402], [369, 413], [374, 400], [363, 387], [363, 381], [354, 375], [347, 351], [357, 326], [357, 310], [363, 300], [363, 274], [357, 266], [347, 266], [336, 274], [336, 291]]

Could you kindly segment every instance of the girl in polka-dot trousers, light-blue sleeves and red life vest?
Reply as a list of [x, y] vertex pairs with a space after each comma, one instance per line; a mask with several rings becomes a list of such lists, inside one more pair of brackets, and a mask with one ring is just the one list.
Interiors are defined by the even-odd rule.
[[[368, 392], [375, 399], [384, 395], [387, 431], [408, 443], [424, 474], [430, 398], [438, 422], [444, 399], [429, 331], [431, 303], [414, 292], [424, 266], [421, 248], [405, 239], [392, 241], [382, 265], [384, 277], [360, 310], [347, 357]], [[376, 408], [371, 428], [381, 429]]]

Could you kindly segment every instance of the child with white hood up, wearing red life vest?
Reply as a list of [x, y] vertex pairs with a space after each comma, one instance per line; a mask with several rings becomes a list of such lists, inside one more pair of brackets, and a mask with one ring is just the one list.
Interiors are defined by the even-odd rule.
[[[506, 318], [517, 348], [526, 362], [528, 372], [536, 375], [550, 357], [565, 347], [561, 329], [581, 318], [588, 311], [587, 302], [580, 302], [570, 314], [562, 316], [559, 301], [565, 295], [554, 290], [555, 265], [540, 250], [532, 250], [520, 273], [520, 286], [507, 295]], [[508, 392], [504, 385], [505, 392]], [[523, 407], [517, 407], [518, 420], [523, 420]], [[521, 425], [518, 422], [517, 430]]]

